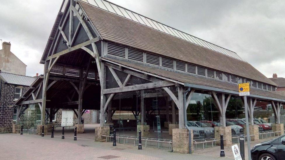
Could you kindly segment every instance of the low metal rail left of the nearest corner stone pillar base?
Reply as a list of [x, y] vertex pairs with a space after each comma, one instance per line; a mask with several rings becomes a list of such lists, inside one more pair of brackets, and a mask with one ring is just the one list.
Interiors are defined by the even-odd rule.
[[[111, 138], [114, 138], [114, 136], [105, 136], [103, 135], [102, 137], [106, 137], [106, 142], [107, 138], [109, 137], [109, 141], [111, 142]], [[124, 145], [128, 143], [128, 140], [134, 140], [134, 146], [138, 143], [138, 138], [137, 137], [132, 137], [132, 136], [116, 136], [116, 140], [118, 139], [118, 142], [120, 143], [120, 139], [124, 139]], [[156, 139], [156, 138], [143, 138], [142, 141], [145, 142], [145, 147], [147, 147], [147, 142], [156, 142], [157, 143], [157, 149], [159, 149], [159, 143], [168, 143], [169, 144], [169, 151], [172, 152], [172, 140], [167, 140], [167, 139]]]

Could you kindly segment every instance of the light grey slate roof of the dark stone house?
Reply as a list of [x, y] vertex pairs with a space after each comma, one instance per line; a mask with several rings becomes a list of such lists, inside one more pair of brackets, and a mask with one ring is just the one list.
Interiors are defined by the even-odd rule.
[[0, 78], [9, 84], [30, 86], [36, 78], [13, 73], [0, 72]]

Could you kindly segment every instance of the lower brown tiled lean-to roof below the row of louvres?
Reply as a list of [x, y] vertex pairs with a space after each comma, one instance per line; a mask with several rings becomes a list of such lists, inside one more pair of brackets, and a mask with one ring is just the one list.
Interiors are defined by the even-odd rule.
[[[131, 63], [131, 62], [122, 61], [118, 59], [102, 58], [102, 60], [105, 60], [111, 63], [113, 62], [115, 64], [120, 64], [120, 65], [127, 66], [127, 67], [131, 67], [139, 71], [151, 73], [153, 75], [158, 75], [158, 76], [168, 78], [171, 80], [175, 80], [178, 82], [182, 82], [182, 83], [190, 83], [194, 85], [216, 87], [220, 89], [226, 89], [230, 91], [239, 92], [237, 84], [223, 82], [220, 80], [213, 80], [213, 79], [209, 79], [209, 78], [205, 78], [201, 76], [193, 76], [193, 75], [188, 75], [188, 74], [183, 74], [183, 73], [178, 73], [178, 72], [173, 72], [173, 71], [166, 71], [166, 70], [162, 70], [159, 68], [145, 66], [143, 64], [138, 64], [138, 63]], [[256, 89], [252, 87], [250, 89], [250, 92], [252, 95], [265, 96], [265, 97], [285, 100], [285, 96], [281, 96], [279, 94], [274, 94], [272, 92], [268, 92], [268, 91], [264, 91], [264, 90], [260, 90], [260, 89]]]

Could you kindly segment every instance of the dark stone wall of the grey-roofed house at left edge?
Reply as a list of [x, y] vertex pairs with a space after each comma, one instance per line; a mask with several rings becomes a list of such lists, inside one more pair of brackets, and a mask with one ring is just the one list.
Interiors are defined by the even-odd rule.
[[1, 81], [0, 95], [0, 133], [12, 133], [14, 116], [15, 87], [22, 88], [22, 94], [26, 92], [27, 86], [7, 84]]

